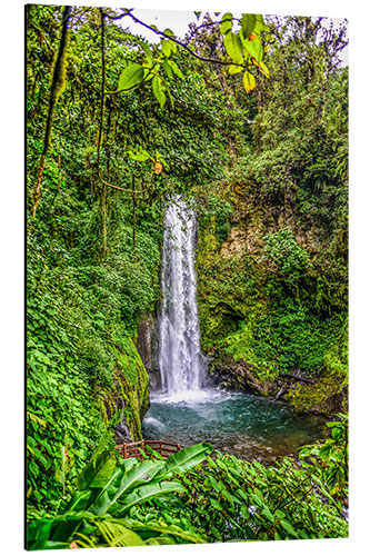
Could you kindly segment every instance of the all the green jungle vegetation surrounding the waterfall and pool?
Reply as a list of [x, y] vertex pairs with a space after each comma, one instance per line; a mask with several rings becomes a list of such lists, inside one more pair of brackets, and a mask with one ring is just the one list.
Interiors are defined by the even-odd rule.
[[[152, 43], [132, 19], [27, 8], [28, 546], [347, 536], [346, 23], [206, 14]], [[149, 407], [173, 193], [212, 375], [334, 417], [297, 459], [113, 455]]]

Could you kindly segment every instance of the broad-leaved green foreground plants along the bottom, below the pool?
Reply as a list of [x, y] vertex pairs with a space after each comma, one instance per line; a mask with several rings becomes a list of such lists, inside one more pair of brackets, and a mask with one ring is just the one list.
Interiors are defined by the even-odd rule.
[[339, 418], [328, 423], [331, 438], [303, 447], [299, 461], [269, 466], [211, 458], [209, 445], [119, 464], [100, 448], [59, 515], [29, 524], [29, 548], [347, 537], [348, 438]]

